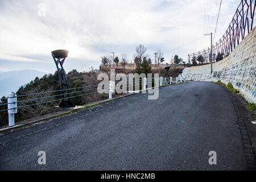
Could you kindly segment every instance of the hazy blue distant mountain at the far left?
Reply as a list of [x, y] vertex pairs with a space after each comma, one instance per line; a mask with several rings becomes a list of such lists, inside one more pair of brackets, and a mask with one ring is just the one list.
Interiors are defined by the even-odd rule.
[[6, 96], [11, 92], [15, 93], [20, 86], [35, 80], [35, 77], [40, 78], [46, 74], [36, 70], [0, 72], [0, 96]]

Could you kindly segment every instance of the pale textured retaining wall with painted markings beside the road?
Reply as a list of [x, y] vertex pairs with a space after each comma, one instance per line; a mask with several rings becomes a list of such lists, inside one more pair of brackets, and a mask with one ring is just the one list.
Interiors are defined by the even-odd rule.
[[210, 64], [190, 67], [183, 70], [183, 77], [193, 81], [218, 81], [225, 84], [231, 82], [239, 89], [249, 102], [256, 103], [256, 27], [224, 60], [213, 63], [213, 73], [210, 74]]

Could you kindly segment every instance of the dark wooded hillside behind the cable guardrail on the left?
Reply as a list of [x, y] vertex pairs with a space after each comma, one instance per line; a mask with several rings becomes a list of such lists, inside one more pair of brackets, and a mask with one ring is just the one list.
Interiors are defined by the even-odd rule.
[[[96, 85], [98, 83], [97, 74], [94, 72], [81, 73], [81, 72], [77, 72], [76, 70], [72, 70], [67, 74], [67, 79], [69, 82], [69, 88], [79, 88], [81, 86]], [[42, 78], [35, 77], [34, 80], [28, 82], [27, 85], [20, 86], [16, 94], [21, 96], [25, 94], [49, 92], [49, 91], [60, 90], [60, 89], [61, 88], [60, 88], [59, 75], [56, 71], [53, 75], [52, 74], [44, 75]], [[86, 89], [92, 89], [92, 88], [86, 88]], [[70, 96], [78, 96], [83, 93], [89, 93], [89, 92], [80, 92], [80, 93], [72, 94], [72, 92], [77, 92], [82, 90], [84, 89], [81, 88], [81, 89], [69, 90], [69, 93], [71, 93]], [[93, 91], [95, 92], [95, 90]], [[31, 99], [40, 98], [40, 97], [55, 96], [51, 98], [37, 99], [37, 100], [28, 101], [28, 102], [19, 102], [18, 106], [31, 105], [31, 104], [45, 102], [45, 101], [57, 100], [61, 98], [61, 96], [56, 96], [58, 94], [61, 94], [61, 92], [43, 93], [43, 94], [36, 94], [31, 96], [18, 97], [18, 101], [22, 101], [22, 100], [31, 100]], [[88, 96], [71, 98], [71, 101], [75, 105], [82, 105], [89, 102], [101, 100], [106, 97], [108, 96], [104, 96], [104, 94], [96, 93]], [[2, 103], [7, 102], [5, 98], [2, 98], [1, 101]], [[16, 122], [23, 121], [24, 119], [34, 118], [34, 117], [38, 117], [39, 115], [53, 113], [59, 110], [59, 107], [56, 107], [57, 105], [59, 105], [59, 101], [19, 108], [18, 113], [15, 114], [15, 121]], [[7, 106], [6, 105], [0, 106], [0, 110], [2, 109], [7, 109]], [[7, 122], [8, 122], [7, 111], [1, 112], [0, 126], [6, 125]]]

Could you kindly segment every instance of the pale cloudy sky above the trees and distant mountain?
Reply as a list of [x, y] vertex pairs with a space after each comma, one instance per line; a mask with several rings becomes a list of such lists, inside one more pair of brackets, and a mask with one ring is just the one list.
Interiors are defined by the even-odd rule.
[[[56, 71], [51, 51], [68, 49], [66, 72], [98, 69], [101, 56], [127, 55], [143, 44], [165, 63], [210, 46], [221, 0], [0, 0], [0, 72]], [[215, 40], [231, 22], [240, 0], [222, 0]]]

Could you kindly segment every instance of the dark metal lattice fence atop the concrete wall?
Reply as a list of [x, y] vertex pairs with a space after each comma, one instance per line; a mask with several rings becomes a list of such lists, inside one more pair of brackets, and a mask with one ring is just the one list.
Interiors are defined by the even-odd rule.
[[[229, 24], [225, 34], [218, 42], [213, 44], [213, 61], [216, 60], [218, 53], [227, 57], [234, 48], [253, 30], [255, 26], [255, 0], [242, 0]], [[206, 63], [210, 63], [210, 47], [203, 51], [188, 54], [188, 63], [191, 63], [192, 57], [202, 55]]]

